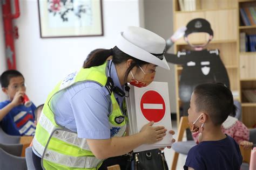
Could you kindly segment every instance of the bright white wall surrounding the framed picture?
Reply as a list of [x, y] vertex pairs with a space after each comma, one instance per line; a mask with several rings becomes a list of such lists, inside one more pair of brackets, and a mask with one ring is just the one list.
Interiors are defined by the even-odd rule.
[[[127, 25], [139, 26], [139, 10], [143, 9], [139, 1], [103, 0], [104, 37], [50, 39], [40, 38], [37, 0], [19, 1], [21, 16], [14, 20], [19, 29], [19, 39], [15, 41], [17, 69], [25, 77], [30, 99], [36, 105], [44, 103], [62, 77], [82, 67], [90, 51], [113, 47], [117, 34]], [[2, 34], [1, 31], [1, 46]]]

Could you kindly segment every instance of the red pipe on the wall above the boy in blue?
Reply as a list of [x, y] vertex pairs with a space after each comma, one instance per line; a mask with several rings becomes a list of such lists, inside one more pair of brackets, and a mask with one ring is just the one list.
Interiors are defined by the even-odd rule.
[[19, 17], [19, 1], [15, 0], [15, 13], [11, 13], [11, 0], [2, 1], [2, 12], [5, 37], [5, 57], [8, 69], [16, 69], [16, 57], [14, 48], [14, 37], [17, 38], [18, 28], [12, 25], [12, 19]]

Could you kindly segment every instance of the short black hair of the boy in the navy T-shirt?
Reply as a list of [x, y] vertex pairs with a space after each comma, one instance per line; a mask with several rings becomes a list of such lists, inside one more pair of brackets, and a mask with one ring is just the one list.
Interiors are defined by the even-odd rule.
[[233, 95], [224, 84], [205, 83], [194, 89], [197, 111], [206, 111], [214, 125], [221, 125], [230, 114], [235, 113]]

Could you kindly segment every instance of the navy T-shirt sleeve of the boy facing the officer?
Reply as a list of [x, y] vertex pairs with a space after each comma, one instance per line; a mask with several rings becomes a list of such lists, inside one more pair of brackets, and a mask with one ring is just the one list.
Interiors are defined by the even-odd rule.
[[188, 167], [194, 169], [206, 169], [202, 156], [194, 147], [188, 151], [186, 163], [183, 168], [188, 169]]

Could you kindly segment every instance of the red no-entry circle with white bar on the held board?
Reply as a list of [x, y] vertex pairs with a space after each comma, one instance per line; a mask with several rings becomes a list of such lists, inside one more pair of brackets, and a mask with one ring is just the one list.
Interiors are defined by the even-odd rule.
[[157, 91], [146, 91], [140, 100], [140, 109], [147, 121], [159, 122], [165, 115], [164, 98]]

